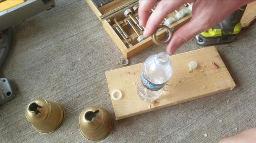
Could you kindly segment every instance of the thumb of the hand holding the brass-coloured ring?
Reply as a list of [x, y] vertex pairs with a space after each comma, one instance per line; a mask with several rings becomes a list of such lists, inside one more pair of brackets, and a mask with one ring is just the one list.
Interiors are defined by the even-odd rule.
[[209, 29], [210, 27], [208, 27], [208, 25], [209, 24], [207, 23], [202, 23], [202, 21], [197, 22], [197, 20], [191, 18], [187, 24], [183, 25], [176, 32], [174, 32], [171, 41], [167, 45], [166, 52], [170, 55], [173, 55], [175, 51], [184, 43], [190, 41], [190, 39], [192, 39], [200, 32]]

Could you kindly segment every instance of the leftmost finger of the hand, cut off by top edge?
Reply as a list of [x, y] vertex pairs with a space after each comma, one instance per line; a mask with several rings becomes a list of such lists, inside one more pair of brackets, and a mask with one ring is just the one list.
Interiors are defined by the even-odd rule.
[[139, 1], [138, 15], [139, 15], [141, 26], [146, 26], [151, 8], [154, 6], [156, 2], [157, 0], [140, 0]]

